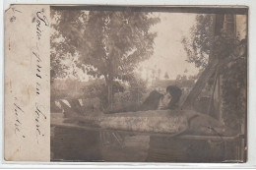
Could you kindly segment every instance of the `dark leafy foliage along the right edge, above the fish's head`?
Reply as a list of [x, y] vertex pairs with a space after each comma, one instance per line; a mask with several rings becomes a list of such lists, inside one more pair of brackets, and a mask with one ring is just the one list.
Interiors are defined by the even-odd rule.
[[222, 70], [224, 122], [239, 131], [238, 125], [246, 114], [247, 47], [240, 41], [236, 41], [235, 46], [232, 54], [228, 56], [230, 62]]

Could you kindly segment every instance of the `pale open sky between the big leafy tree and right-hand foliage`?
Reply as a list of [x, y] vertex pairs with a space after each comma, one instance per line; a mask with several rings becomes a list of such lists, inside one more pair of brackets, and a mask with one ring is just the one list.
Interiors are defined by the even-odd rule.
[[[187, 54], [181, 43], [183, 36], [190, 35], [190, 28], [195, 24], [196, 14], [191, 13], [158, 13], [160, 24], [152, 31], [157, 31], [155, 39], [155, 53], [147, 61], [141, 63], [143, 78], [146, 78], [146, 68], [160, 69], [163, 79], [167, 72], [169, 79], [176, 79], [177, 75], [196, 75], [198, 69], [186, 61]], [[149, 70], [149, 69], [148, 69]], [[184, 71], [187, 70], [187, 73]]]

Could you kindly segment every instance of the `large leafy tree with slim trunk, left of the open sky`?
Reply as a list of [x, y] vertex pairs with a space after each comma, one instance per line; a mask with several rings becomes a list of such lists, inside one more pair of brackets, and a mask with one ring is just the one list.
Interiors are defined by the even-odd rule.
[[160, 19], [150, 13], [132, 11], [73, 11], [71, 16], [69, 13], [70, 10], [56, 10], [55, 14], [55, 28], [65, 39], [60, 52], [78, 53], [76, 67], [95, 78], [104, 78], [111, 106], [114, 80], [129, 81], [139, 62], [153, 54], [157, 33], [150, 28]]

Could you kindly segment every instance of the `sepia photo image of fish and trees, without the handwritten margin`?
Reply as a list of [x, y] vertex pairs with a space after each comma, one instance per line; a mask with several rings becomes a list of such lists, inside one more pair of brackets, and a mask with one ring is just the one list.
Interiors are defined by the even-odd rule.
[[50, 13], [51, 161], [246, 162], [247, 8]]

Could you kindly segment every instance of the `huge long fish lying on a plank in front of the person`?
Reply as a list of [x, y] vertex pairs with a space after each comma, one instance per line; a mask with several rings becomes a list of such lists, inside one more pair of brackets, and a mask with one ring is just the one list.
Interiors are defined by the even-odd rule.
[[151, 110], [90, 116], [75, 116], [65, 121], [93, 125], [102, 129], [139, 133], [178, 135], [235, 136], [235, 132], [211, 116], [193, 110]]

